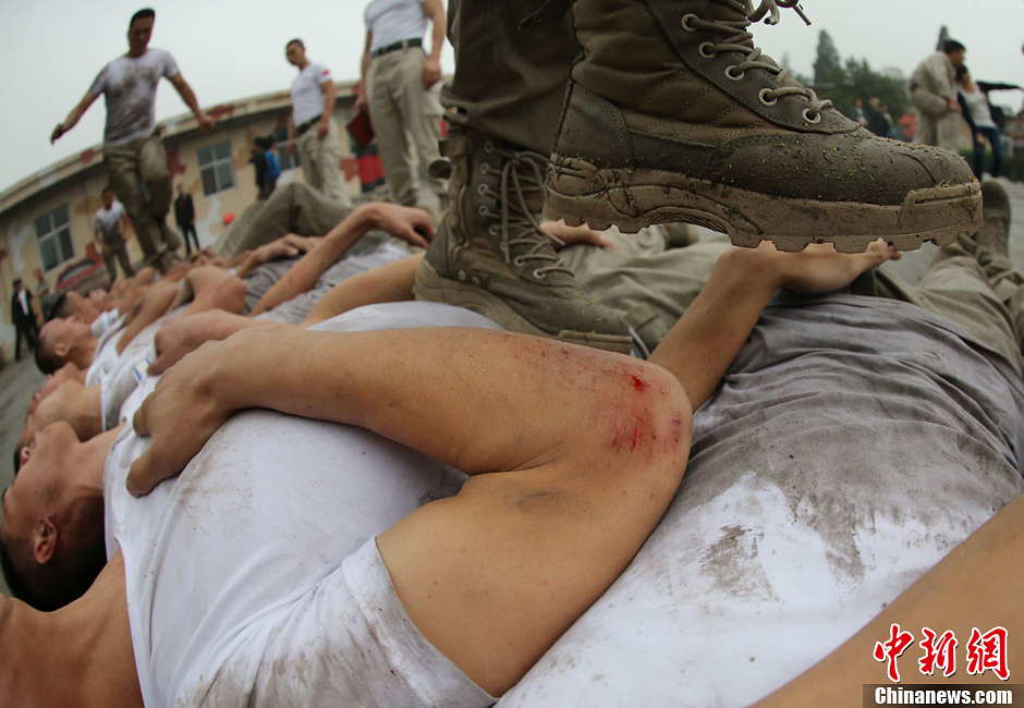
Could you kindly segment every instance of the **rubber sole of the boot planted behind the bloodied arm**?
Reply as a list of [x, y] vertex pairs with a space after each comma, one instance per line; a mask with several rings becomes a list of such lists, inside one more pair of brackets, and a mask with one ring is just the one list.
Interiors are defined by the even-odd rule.
[[630, 354], [633, 350], [633, 341], [629, 337], [577, 332], [569, 329], [560, 330], [557, 334], [547, 332], [536, 327], [497, 295], [476, 285], [442, 277], [427, 260], [424, 260], [416, 270], [413, 294], [416, 300], [428, 300], [472, 309], [509, 331], [547, 337], [570, 344], [581, 344], [619, 354]]

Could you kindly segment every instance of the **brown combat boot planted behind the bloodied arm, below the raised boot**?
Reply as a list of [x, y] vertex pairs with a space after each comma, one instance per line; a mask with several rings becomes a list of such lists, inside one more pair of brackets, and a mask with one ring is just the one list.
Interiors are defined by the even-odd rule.
[[413, 292], [466, 307], [508, 330], [629, 353], [619, 313], [585, 297], [537, 225], [547, 158], [453, 131], [449, 210]]

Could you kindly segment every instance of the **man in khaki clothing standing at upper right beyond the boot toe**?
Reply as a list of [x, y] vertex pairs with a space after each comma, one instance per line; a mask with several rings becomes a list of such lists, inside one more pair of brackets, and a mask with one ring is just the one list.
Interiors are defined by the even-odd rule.
[[966, 52], [962, 44], [948, 39], [942, 51], [929, 54], [911, 74], [911, 101], [921, 113], [915, 143], [958, 148], [956, 68], [964, 63]]

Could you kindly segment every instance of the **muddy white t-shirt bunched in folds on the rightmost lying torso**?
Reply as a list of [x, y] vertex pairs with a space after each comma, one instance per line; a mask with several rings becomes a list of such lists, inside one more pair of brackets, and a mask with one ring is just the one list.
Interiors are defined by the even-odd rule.
[[756, 701], [1021, 493], [1022, 408], [1009, 365], [912, 305], [769, 308], [665, 518], [498, 705]]

